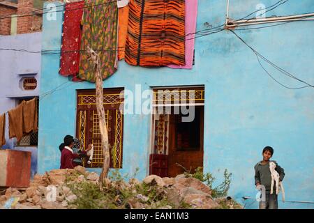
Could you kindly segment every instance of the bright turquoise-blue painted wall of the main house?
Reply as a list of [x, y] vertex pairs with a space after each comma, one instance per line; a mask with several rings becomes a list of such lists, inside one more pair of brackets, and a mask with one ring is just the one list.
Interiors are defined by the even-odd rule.
[[[54, 2], [57, 6], [61, 3]], [[255, 11], [260, 1], [231, 1], [230, 17], [239, 19]], [[275, 0], [262, 1], [265, 6]], [[60, 7], [59, 7], [60, 8]], [[59, 9], [58, 8], [58, 9]], [[197, 30], [225, 22], [225, 1], [200, 0]], [[271, 15], [294, 15], [314, 11], [311, 0], [289, 1]], [[209, 26], [208, 26], [209, 25]], [[43, 49], [60, 49], [62, 13], [57, 20], [43, 17]], [[248, 26], [247, 28], [252, 28]], [[311, 84], [313, 77], [313, 21], [291, 22], [266, 29], [237, 31], [278, 66]], [[94, 89], [88, 82], [68, 82], [58, 74], [59, 54], [43, 55], [40, 94], [63, 84], [40, 100], [38, 171], [59, 168], [59, 144], [64, 135], [75, 135], [77, 89]], [[265, 68], [288, 86], [301, 84]], [[124, 87], [142, 91], [152, 86], [205, 86], [204, 171], [218, 178], [223, 170], [232, 172], [230, 195], [244, 204], [244, 196], [255, 197], [254, 165], [262, 159], [264, 146], [274, 147], [274, 160], [285, 169], [286, 199], [314, 201], [314, 91], [284, 89], [259, 66], [255, 54], [230, 31], [197, 38], [193, 70], [140, 68], [119, 62], [119, 70], [104, 82], [105, 88]], [[121, 173], [132, 174], [140, 168], [138, 178], [147, 176], [150, 141], [150, 116], [124, 116], [124, 157]], [[99, 169], [98, 169], [99, 171]], [[303, 174], [304, 173], [304, 174]], [[249, 199], [247, 208], [257, 208]], [[279, 203], [281, 208], [313, 208], [313, 204]]]

